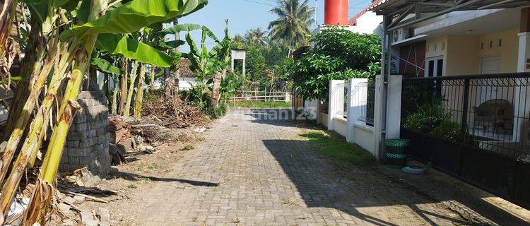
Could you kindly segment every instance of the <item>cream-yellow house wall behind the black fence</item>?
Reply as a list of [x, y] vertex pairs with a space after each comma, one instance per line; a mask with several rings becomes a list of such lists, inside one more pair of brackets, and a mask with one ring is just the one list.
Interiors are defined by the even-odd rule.
[[[447, 35], [427, 40], [425, 56], [444, 57], [444, 76], [466, 76], [481, 73], [482, 57], [499, 57], [499, 72], [514, 73], [517, 71], [517, 53], [519, 48], [517, 28], [492, 32], [485, 35]], [[499, 46], [499, 40], [502, 40]], [[446, 49], [441, 49], [442, 42], [446, 42]], [[437, 47], [435, 47], [437, 45]], [[492, 99], [508, 100], [512, 105], [514, 88], [498, 87], [495, 91], [485, 88], [483, 83], [514, 83], [512, 79], [496, 79], [477, 83], [473, 81], [469, 88], [469, 111], [480, 106], [484, 101]], [[461, 110], [461, 97], [464, 87], [461, 85], [448, 85], [442, 88], [442, 95], [449, 100], [444, 102], [445, 109]], [[452, 113], [452, 119], [461, 122], [461, 114]], [[474, 114], [468, 114], [468, 125], [473, 126]]]

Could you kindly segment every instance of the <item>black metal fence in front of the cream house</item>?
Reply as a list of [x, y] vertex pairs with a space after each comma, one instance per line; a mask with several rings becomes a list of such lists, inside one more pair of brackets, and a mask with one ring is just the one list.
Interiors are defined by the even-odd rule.
[[408, 154], [530, 207], [530, 73], [404, 79]]

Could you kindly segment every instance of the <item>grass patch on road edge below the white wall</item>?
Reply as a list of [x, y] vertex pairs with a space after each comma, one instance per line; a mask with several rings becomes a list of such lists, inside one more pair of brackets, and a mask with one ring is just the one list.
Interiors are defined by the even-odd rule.
[[308, 138], [310, 147], [322, 155], [335, 160], [353, 165], [370, 165], [375, 162], [375, 157], [358, 145], [346, 142], [344, 138], [324, 132], [301, 133], [300, 136]]

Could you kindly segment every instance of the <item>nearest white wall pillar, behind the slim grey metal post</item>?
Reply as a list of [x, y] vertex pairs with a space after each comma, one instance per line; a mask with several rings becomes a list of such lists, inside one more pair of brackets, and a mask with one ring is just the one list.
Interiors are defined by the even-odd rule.
[[[385, 139], [400, 138], [401, 129], [401, 88], [403, 85], [403, 76], [389, 76], [388, 93], [387, 93], [387, 115], [386, 125], [382, 124], [382, 79], [381, 76], [375, 78], [375, 117], [374, 117], [374, 146], [377, 155], [384, 151], [382, 141]], [[384, 127], [384, 128], [383, 128]], [[382, 131], [385, 131], [386, 137], [382, 138]]]

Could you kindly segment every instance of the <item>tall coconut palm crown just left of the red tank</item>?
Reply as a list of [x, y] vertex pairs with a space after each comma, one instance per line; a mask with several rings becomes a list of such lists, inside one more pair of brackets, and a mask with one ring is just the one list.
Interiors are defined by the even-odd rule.
[[302, 4], [299, 0], [278, 1], [278, 6], [271, 9], [271, 13], [278, 16], [269, 23], [271, 38], [287, 40], [293, 46], [307, 44], [309, 27], [314, 23], [314, 8], [307, 1], [304, 0]]

